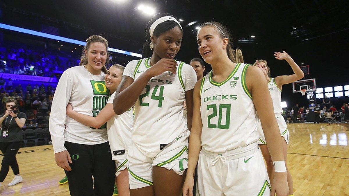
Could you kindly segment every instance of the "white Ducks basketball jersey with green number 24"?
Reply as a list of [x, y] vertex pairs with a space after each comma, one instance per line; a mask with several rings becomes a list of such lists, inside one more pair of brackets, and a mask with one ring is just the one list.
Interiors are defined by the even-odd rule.
[[[124, 76], [137, 80], [148, 68], [150, 58], [131, 61]], [[157, 153], [187, 130], [183, 118], [185, 91], [197, 81], [194, 69], [177, 61], [177, 73], [165, 71], [151, 78], [135, 103], [132, 141], [144, 151]]]

